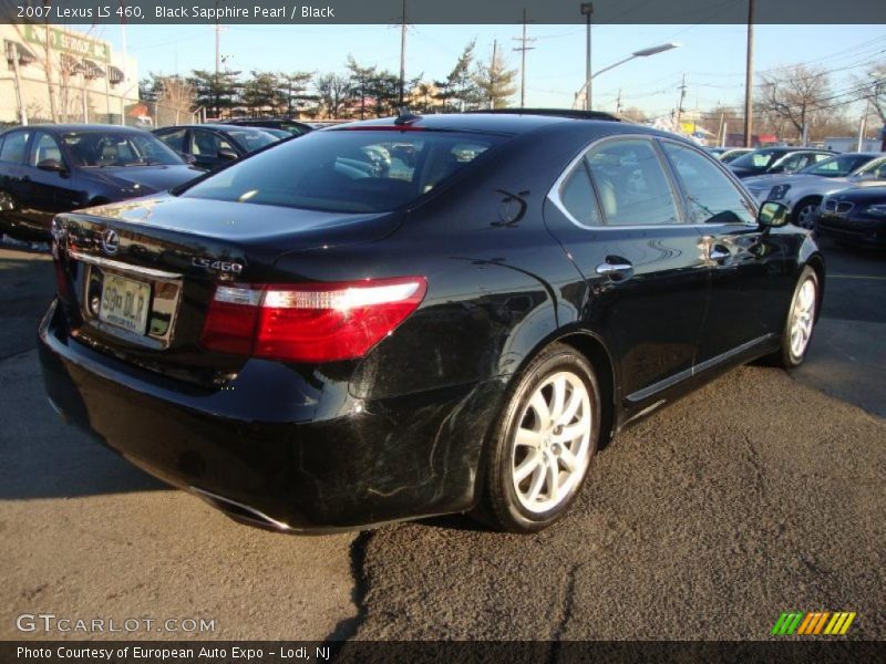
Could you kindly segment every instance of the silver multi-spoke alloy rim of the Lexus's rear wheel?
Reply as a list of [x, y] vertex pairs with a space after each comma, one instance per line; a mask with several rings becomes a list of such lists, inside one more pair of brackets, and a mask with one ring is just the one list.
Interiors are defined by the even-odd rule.
[[546, 512], [566, 501], [581, 483], [591, 456], [590, 395], [569, 371], [536, 387], [519, 416], [511, 477], [519, 504]]

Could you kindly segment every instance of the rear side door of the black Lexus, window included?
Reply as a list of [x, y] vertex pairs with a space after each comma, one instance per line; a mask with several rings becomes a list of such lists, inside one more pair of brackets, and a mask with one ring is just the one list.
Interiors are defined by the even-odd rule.
[[708, 276], [699, 232], [684, 222], [655, 141], [598, 142], [560, 177], [549, 201], [546, 222], [591, 293], [583, 319], [605, 330], [627, 403], [689, 377]]

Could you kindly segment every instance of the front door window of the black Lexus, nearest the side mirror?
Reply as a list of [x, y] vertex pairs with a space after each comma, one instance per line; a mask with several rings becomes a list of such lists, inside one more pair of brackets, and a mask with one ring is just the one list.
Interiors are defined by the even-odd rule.
[[692, 224], [751, 224], [753, 210], [715, 164], [694, 149], [662, 142], [662, 148], [680, 178]]

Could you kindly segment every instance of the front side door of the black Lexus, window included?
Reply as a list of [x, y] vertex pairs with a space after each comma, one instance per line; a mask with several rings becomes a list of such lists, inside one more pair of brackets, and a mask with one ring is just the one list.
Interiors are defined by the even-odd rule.
[[771, 341], [790, 297], [789, 251], [756, 224], [756, 206], [713, 159], [660, 139], [680, 183], [690, 221], [702, 232], [711, 290], [696, 359], [698, 369]]

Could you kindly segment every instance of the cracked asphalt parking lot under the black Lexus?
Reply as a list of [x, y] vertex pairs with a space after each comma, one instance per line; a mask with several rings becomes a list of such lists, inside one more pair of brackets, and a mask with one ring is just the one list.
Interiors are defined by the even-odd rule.
[[626, 432], [554, 528], [289, 537], [61, 424], [34, 351], [48, 257], [0, 248], [0, 639], [90, 637], [16, 629], [42, 612], [216, 621], [123, 634], [147, 639], [758, 640], [787, 610], [886, 639], [886, 255], [825, 250], [807, 364], [743, 367]]

